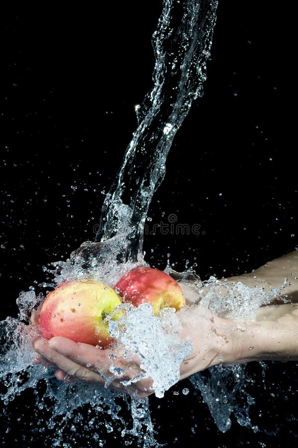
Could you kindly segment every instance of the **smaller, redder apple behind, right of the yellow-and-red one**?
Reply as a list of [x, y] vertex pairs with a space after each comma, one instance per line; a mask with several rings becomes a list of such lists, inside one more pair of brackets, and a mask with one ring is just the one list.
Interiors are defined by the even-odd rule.
[[150, 303], [155, 315], [165, 307], [178, 311], [186, 305], [180, 286], [170, 275], [146, 266], [131, 269], [120, 278], [114, 290], [135, 307]]

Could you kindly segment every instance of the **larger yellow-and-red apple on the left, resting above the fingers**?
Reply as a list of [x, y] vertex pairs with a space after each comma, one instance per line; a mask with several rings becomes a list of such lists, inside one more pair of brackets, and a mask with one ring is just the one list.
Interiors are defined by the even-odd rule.
[[117, 305], [119, 297], [108, 286], [95, 280], [61, 283], [42, 304], [40, 327], [43, 336], [68, 337], [75, 342], [102, 347], [108, 345], [108, 324], [102, 320]]

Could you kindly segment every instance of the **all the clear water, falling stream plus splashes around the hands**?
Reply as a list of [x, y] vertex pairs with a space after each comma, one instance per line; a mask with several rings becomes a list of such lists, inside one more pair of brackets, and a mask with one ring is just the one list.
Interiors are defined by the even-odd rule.
[[[216, 7], [216, 0], [164, 0], [153, 35], [156, 57], [153, 87], [143, 104], [136, 107], [138, 126], [106, 195], [101, 212], [103, 225], [96, 242], [86, 241], [67, 261], [44, 268], [43, 286], [50, 289], [63, 281], [82, 278], [95, 278], [113, 286], [124, 272], [137, 263], [145, 263], [142, 244], [148, 207], [164, 178], [165, 162], [174, 136], [193, 100], [202, 95]], [[192, 273], [181, 276], [170, 273], [185, 280], [192, 277], [194, 284], [199, 282], [199, 277]], [[206, 286], [209, 289], [204, 296], [204, 306], [220, 313], [223, 310], [217, 300], [219, 286], [216, 279], [210, 279]], [[249, 298], [249, 312], [252, 313], [261, 303], [270, 302], [272, 292], [266, 295], [261, 290], [257, 293], [244, 287], [242, 295]], [[226, 302], [230, 307], [228, 312], [235, 318], [243, 317], [248, 302], [242, 301], [244, 305], [239, 308], [234, 297], [231, 290]], [[11, 431], [9, 405], [31, 388], [35, 397], [32, 406], [41, 416], [36, 431], [46, 432], [45, 440], [51, 444], [49, 446], [71, 447], [79, 437], [88, 435], [100, 447], [105, 443], [105, 434], [112, 432], [120, 433], [126, 445], [137, 438], [144, 447], [158, 446], [148, 399], [129, 399], [108, 388], [79, 381], [61, 383], [54, 377], [53, 366], [33, 363], [35, 354], [31, 340], [39, 336], [39, 329], [28, 324], [32, 310], [43, 299], [42, 295], [36, 297], [34, 291], [22, 292], [17, 300], [18, 318], [8, 317], [1, 322], [1, 398], [4, 404], [1, 418], [2, 422], [7, 422], [6, 431]], [[142, 332], [138, 330], [140, 322], [143, 323]], [[179, 380], [179, 365], [191, 352], [189, 344], [182, 344], [178, 336], [173, 337], [179, 333], [179, 325], [173, 312], [157, 318], [146, 305], [127, 311], [122, 332], [112, 323], [110, 325], [116, 339], [128, 348], [137, 347], [148, 376], [154, 380], [158, 397], [163, 397], [165, 391]], [[241, 425], [251, 426], [249, 407], [253, 398], [244, 392], [244, 378], [245, 366], [213, 367], [191, 378], [223, 432], [230, 427], [232, 412]], [[241, 400], [237, 395], [240, 389]], [[127, 408], [132, 416], [129, 424], [122, 415], [122, 410]], [[67, 431], [70, 431], [68, 436]]]

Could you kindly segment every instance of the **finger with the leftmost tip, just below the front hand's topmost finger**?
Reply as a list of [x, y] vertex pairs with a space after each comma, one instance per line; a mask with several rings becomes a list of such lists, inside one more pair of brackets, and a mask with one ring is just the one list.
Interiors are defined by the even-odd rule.
[[76, 378], [86, 382], [96, 382], [104, 384], [104, 381], [99, 373], [96, 373], [93, 370], [89, 370], [89, 368], [85, 367], [84, 365], [78, 364], [72, 359], [63, 356], [57, 350], [50, 347], [49, 343], [46, 340], [38, 339], [34, 342], [34, 348], [43, 357], [55, 364], [57, 367], [59, 367], [59, 369], [67, 372], [69, 375], [75, 376]]

